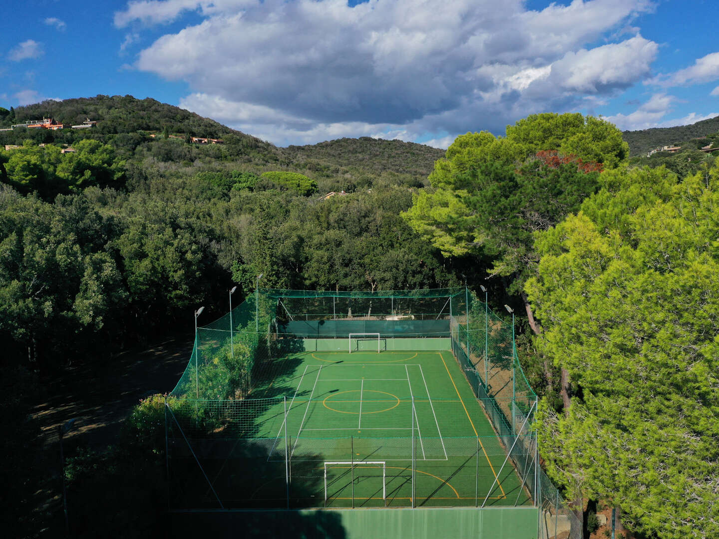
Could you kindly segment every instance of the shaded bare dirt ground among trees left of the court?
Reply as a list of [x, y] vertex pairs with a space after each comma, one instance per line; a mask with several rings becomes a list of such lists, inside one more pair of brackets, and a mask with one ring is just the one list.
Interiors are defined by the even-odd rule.
[[165, 336], [146, 346], [122, 352], [104, 365], [83, 364], [59, 377], [42, 379], [45, 399], [32, 410], [40, 426], [43, 450], [35, 467], [45, 480], [29, 500], [34, 517], [27, 522], [26, 538], [58, 536], [64, 528], [60, 497], [58, 426], [75, 419], [63, 439], [65, 456], [78, 447], [102, 448], [114, 443], [124, 418], [142, 398], [170, 392], [192, 354], [191, 335]]

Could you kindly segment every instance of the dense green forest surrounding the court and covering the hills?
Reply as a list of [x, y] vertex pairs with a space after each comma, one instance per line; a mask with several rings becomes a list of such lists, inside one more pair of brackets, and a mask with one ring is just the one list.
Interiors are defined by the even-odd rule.
[[[42, 451], [27, 420], [42, 380], [190, 331], [198, 305], [212, 319], [229, 288], [242, 300], [260, 274], [264, 287], [309, 290], [489, 287], [495, 310], [525, 313], [518, 346], [543, 397], [542, 456], [578, 515], [603, 500], [640, 536], [719, 533], [711, 155], [638, 162], [626, 133], [580, 114], [468, 133], [446, 152], [370, 138], [278, 148], [131, 96], [0, 116], [98, 122], [0, 132], [0, 444], [15, 459], [0, 471], [13, 493], [0, 525], [11, 535], [45, 518], [31, 502], [42, 471], [18, 473]], [[160, 530], [162, 413], [147, 399], [116, 446], [70, 456], [75, 535], [96, 536], [107, 505], [124, 537]], [[108, 482], [122, 488], [104, 492]]]

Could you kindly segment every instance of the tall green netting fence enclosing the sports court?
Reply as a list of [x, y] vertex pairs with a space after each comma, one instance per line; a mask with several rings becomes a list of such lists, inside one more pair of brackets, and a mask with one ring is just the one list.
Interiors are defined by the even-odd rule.
[[[475, 436], [440, 438], [440, 424], [475, 413], [467, 410], [457, 386], [460, 400], [446, 395], [433, 400], [438, 433], [415, 430], [420, 426], [418, 413], [423, 417], [421, 407], [426, 407], [418, 400], [429, 396], [416, 394], [416, 388], [391, 392], [398, 400], [396, 409], [407, 410], [395, 410], [398, 415], [393, 417], [405, 421], [391, 427], [398, 430], [347, 436], [338, 430], [322, 437], [303, 428], [313, 414], [322, 418], [327, 408], [324, 401], [324, 408], [313, 402], [312, 394], [299, 395], [308, 354], [321, 351], [344, 358], [347, 353], [351, 358], [353, 352], [431, 350], [451, 351], [456, 364], [452, 368], [459, 367], [462, 383], [471, 388], [492, 432], [475, 429]], [[441, 368], [449, 373], [449, 367]], [[304, 369], [306, 373], [306, 365]], [[347, 392], [352, 391], [357, 390]], [[290, 395], [294, 397], [288, 405]], [[359, 401], [367, 402], [362, 397]], [[188, 366], [168, 395], [170, 504], [533, 504], [541, 508], [539, 536], [554, 537], [574, 515], [537, 466], [534, 410], [536, 395], [518, 361], [512, 322], [493, 313], [466, 287], [389, 292], [259, 289], [197, 329]], [[299, 432], [288, 431], [288, 425], [299, 425]], [[342, 464], [327, 469], [327, 462]], [[575, 533], [576, 522], [571, 528]]]

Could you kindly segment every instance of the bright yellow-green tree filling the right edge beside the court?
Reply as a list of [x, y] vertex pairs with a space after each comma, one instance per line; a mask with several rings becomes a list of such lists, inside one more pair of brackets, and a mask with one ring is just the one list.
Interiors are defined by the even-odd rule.
[[540, 407], [541, 452], [554, 479], [612, 500], [633, 530], [715, 537], [719, 169], [683, 181], [616, 170], [601, 183], [536, 235], [536, 344], [572, 388], [564, 415]]

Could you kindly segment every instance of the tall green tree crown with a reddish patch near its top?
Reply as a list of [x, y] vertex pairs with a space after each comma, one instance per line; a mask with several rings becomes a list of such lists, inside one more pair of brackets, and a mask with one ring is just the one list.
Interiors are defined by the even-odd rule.
[[536, 260], [533, 231], [554, 226], [595, 192], [597, 173], [628, 153], [621, 133], [581, 114], [536, 114], [506, 137], [467, 133], [413, 195], [408, 224], [448, 255], [482, 253], [519, 292]]

